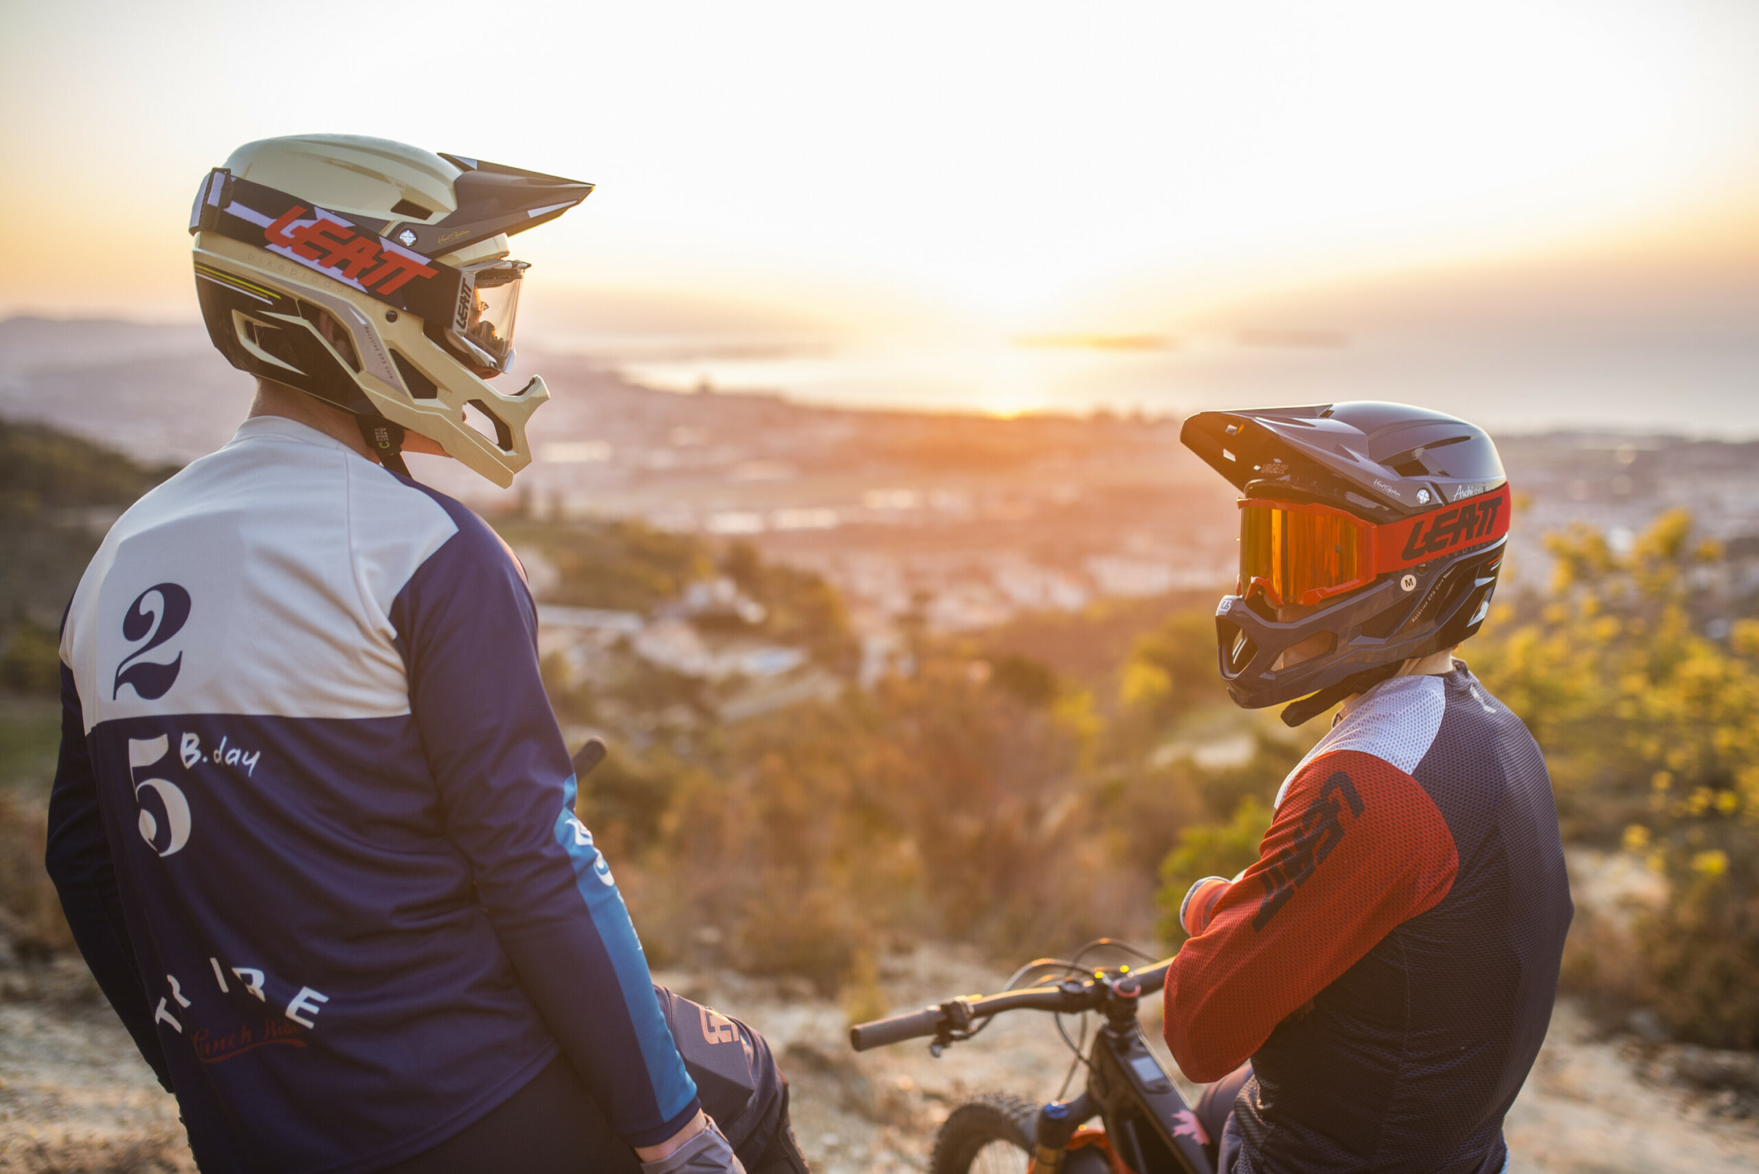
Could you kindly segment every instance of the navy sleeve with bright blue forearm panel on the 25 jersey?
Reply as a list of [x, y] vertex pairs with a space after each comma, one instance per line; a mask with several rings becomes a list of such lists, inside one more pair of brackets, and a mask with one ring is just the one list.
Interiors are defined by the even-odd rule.
[[445, 503], [452, 534], [392, 603], [447, 831], [521, 984], [612, 1128], [665, 1141], [700, 1107], [635, 926], [591, 833], [536, 657], [512, 552]]

